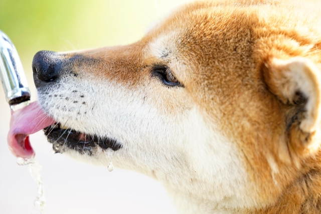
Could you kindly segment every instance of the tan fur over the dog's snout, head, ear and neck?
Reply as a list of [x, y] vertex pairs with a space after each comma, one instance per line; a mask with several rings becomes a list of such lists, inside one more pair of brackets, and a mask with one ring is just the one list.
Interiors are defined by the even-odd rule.
[[[173, 120], [195, 108], [209, 130], [220, 130], [232, 142], [244, 163], [249, 181], [244, 195], [251, 202], [212, 207], [215, 190], [208, 183], [207, 193], [182, 190], [200, 210], [320, 213], [320, 8], [319, 1], [190, 4], [137, 43], [77, 53], [96, 63], [74, 65], [75, 72], [137, 91]], [[168, 65], [185, 87], [159, 86], [150, 76], [152, 64]], [[294, 80], [295, 72], [304, 78]], [[304, 94], [300, 81], [312, 91]], [[154, 170], [135, 170], [159, 178]], [[191, 183], [202, 182], [196, 174]], [[170, 176], [161, 181], [174, 188]]]

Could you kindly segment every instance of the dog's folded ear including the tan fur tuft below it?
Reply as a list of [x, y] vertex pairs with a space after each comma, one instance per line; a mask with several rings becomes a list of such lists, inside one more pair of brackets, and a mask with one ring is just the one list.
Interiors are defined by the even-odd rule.
[[268, 90], [285, 104], [286, 132], [291, 147], [295, 153], [305, 153], [321, 120], [321, 66], [295, 57], [273, 58], [263, 67]]

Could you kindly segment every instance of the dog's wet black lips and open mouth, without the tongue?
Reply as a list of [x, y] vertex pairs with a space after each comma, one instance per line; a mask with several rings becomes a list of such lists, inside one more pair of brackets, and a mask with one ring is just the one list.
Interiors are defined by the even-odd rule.
[[44, 132], [56, 153], [75, 150], [80, 154], [93, 155], [98, 147], [99, 150], [111, 148], [114, 151], [121, 148], [121, 144], [116, 139], [65, 129], [60, 123], [44, 128]]

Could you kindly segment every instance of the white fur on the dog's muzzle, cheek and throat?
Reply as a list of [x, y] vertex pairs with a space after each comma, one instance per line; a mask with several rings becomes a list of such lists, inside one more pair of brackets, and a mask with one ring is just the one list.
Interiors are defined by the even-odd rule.
[[[250, 196], [244, 195], [248, 181], [233, 143], [219, 130], [209, 129], [195, 106], [167, 112], [162, 99], [155, 100], [153, 94], [152, 86], [159, 82], [151, 81], [151, 88], [128, 90], [116, 82], [102, 84], [95, 77], [81, 81], [68, 77], [58, 89], [52, 88], [51, 98], [40, 92], [39, 99], [45, 110], [67, 127], [118, 139], [123, 147], [114, 152], [116, 167], [152, 176], [176, 196], [208, 201], [210, 209], [252, 206]], [[73, 103], [80, 95], [84, 98]], [[73, 150], [66, 153], [108, 165], [101, 150], [95, 156]]]

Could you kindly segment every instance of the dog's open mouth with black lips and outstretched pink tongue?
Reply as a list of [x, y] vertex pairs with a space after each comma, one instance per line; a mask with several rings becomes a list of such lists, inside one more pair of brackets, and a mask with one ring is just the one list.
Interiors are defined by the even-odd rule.
[[122, 147], [121, 143], [110, 137], [65, 129], [48, 115], [38, 102], [34, 102], [12, 112], [8, 133], [9, 148], [17, 157], [33, 157], [35, 152], [30, 144], [29, 135], [42, 129], [45, 130], [48, 141], [53, 144], [55, 152], [76, 150], [82, 154], [93, 155], [107, 148], [118, 150]]

